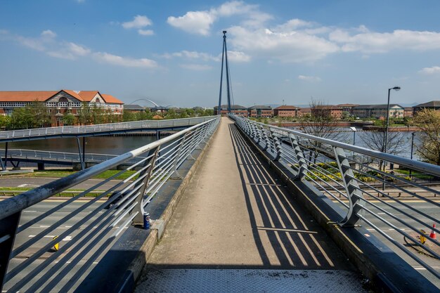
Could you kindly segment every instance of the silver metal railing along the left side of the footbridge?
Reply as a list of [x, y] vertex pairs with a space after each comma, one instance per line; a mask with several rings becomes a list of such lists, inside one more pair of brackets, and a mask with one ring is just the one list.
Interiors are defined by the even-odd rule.
[[[63, 286], [62, 291], [67, 291], [75, 285], [76, 280], [85, 278], [87, 268], [108, 251], [110, 245], [130, 223], [143, 225], [145, 211], [150, 207], [148, 204], [169, 178], [181, 178], [177, 172], [181, 164], [188, 157], [192, 158], [194, 150], [212, 135], [218, 123], [219, 117], [209, 119], [89, 169], [1, 201], [0, 285], [6, 285], [3, 289], [17, 292], [25, 287], [26, 290], [34, 292], [43, 288], [41, 292], [46, 292], [58, 285]], [[145, 155], [140, 157], [143, 154]], [[133, 158], [139, 159], [127, 169], [99, 181], [91, 188], [56, 204], [29, 221], [20, 223], [23, 210]], [[118, 176], [129, 170], [134, 172], [127, 178], [117, 180]], [[103, 188], [105, 183], [110, 187]], [[98, 194], [85, 203], [71, 205], [89, 193]], [[106, 197], [108, 200], [103, 201]], [[72, 207], [73, 211], [66, 213], [64, 209], [67, 207]], [[27, 232], [34, 224], [50, 219], [57, 220], [42, 227], [37, 235], [26, 236], [26, 233], [34, 233]], [[62, 226], [73, 219], [75, 223]], [[60, 240], [47, 240], [46, 237], [51, 237], [51, 234], [58, 235]], [[20, 241], [13, 247], [15, 237], [19, 237]], [[48, 249], [60, 241], [66, 242], [58, 251], [48, 258], [40, 259]], [[18, 261], [6, 271], [10, 260], [15, 261], [16, 257], [26, 252], [29, 252], [30, 256], [27, 255], [25, 260]], [[75, 266], [75, 263], [79, 263], [85, 256], [85, 263]], [[70, 271], [75, 273], [73, 277], [68, 275]]]

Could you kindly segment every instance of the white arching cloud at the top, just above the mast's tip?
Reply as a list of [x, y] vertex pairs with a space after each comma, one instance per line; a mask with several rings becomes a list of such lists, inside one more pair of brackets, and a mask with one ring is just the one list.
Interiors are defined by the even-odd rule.
[[216, 20], [232, 15], [242, 15], [245, 18], [243, 24], [248, 27], [258, 27], [273, 18], [271, 15], [259, 11], [258, 5], [245, 4], [243, 1], [230, 1], [209, 11], [188, 11], [183, 16], [169, 16], [167, 22], [169, 25], [186, 32], [207, 36]]

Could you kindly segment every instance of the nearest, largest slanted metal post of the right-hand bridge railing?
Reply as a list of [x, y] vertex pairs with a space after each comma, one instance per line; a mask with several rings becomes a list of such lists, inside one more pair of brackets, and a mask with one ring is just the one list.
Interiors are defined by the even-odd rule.
[[349, 211], [339, 225], [342, 227], [353, 227], [359, 220], [357, 214], [361, 211], [365, 203], [363, 202], [363, 196], [361, 190], [359, 190], [358, 182], [354, 180], [354, 173], [344, 149], [333, 147], [333, 151], [335, 152], [337, 166], [339, 167], [342, 181], [344, 182], [345, 192], [349, 198]]

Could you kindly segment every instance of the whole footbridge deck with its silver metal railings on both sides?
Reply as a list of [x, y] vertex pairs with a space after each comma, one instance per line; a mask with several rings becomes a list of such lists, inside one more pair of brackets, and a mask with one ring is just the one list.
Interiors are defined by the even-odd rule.
[[440, 232], [440, 192], [380, 161], [440, 176], [422, 162], [215, 117], [1, 201], [0, 283], [6, 292], [438, 292], [439, 242], [419, 239], [420, 229]]

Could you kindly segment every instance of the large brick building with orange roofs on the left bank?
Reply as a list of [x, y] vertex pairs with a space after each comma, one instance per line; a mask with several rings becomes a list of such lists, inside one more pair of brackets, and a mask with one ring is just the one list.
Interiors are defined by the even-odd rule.
[[99, 91], [0, 91], [0, 115], [11, 115], [14, 108], [22, 108], [41, 102], [51, 116], [51, 126], [63, 126], [67, 113], [77, 116], [84, 103], [105, 112], [122, 115], [122, 101]]

